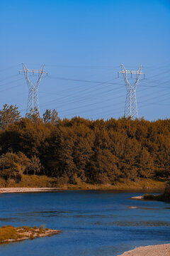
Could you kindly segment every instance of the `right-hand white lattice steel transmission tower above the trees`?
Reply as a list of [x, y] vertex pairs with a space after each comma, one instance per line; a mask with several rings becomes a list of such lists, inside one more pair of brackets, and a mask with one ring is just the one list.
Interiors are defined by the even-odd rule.
[[[145, 78], [145, 73], [142, 73], [142, 65], [140, 65], [140, 68], [138, 70], [126, 70], [124, 65], [122, 64], [121, 69], [122, 71], [118, 72], [118, 77], [120, 73], [123, 74], [125, 86], [127, 89], [126, 101], [125, 101], [125, 117], [130, 117], [132, 120], [134, 120], [138, 118], [136, 87], [140, 80], [140, 75], [143, 74]], [[131, 78], [132, 78], [132, 74], [136, 75], [136, 79], [133, 85], [130, 85], [130, 83], [128, 82], [127, 74], [130, 74]]]

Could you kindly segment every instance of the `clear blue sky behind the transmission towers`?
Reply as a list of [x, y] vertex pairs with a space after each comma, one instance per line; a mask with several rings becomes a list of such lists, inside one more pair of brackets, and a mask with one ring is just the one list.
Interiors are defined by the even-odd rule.
[[21, 63], [31, 69], [44, 63], [41, 114], [55, 108], [62, 118], [122, 117], [120, 64], [133, 70], [142, 64], [139, 117], [170, 117], [170, 1], [6, 0], [0, 19], [1, 108], [16, 104], [26, 113], [28, 86], [18, 70]]

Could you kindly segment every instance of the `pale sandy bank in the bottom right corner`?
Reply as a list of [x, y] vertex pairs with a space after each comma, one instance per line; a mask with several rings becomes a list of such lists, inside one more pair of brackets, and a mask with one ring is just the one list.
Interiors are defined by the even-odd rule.
[[137, 247], [118, 256], [169, 256], [170, 244]]

